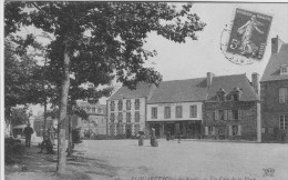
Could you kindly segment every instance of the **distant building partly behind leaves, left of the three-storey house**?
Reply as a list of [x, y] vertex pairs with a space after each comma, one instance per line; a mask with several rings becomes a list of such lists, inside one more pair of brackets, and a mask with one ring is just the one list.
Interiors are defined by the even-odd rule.
[[94, 136], [106, 136], [106, 106], [93, 104], [89, 102], [78, 102], [79, 108], [85, 110], [89, 120], [83, 120], [78, 116], [72, 116], [72, 128], [81, 128], [83, 133], [90, 138]]

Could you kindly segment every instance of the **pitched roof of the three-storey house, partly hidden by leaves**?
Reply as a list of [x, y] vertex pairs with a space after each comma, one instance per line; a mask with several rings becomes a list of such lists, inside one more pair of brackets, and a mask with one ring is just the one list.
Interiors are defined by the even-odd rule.
[[121, 87], [111, 98], [107, 100], [120, 100], [123, 98], [134, 99], [134, 98], [145, 98], [148, 97], [150, 92], [155, 86], [146, 82], [140, 82], [135, 90], [131, 90], [127, 87]]

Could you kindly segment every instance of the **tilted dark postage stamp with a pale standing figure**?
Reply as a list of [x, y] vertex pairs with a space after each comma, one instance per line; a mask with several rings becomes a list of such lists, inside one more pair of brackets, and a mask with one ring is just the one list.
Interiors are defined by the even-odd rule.
[[227, 52], [261, 60], [272, 17], [236, 9]]

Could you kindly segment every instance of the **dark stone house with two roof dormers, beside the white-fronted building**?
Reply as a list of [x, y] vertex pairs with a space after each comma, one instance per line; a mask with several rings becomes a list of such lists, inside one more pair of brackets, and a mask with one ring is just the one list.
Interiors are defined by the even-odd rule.
[[208, 72], [204, 138], [257, 140], [258, 137], [260, 141], [258, 83], [257, 73], [250, 83], [246, 74], [215, 77]]

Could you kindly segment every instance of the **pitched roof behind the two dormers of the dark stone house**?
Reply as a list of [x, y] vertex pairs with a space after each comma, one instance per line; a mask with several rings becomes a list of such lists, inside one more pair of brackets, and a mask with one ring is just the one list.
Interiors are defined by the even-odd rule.
[[241, 90], [240, 101], [258, 100], [258, 96], [245, 73], [214, 77], [208, 90], [207, 100], [216, 100], [219, 89], [224, 89], [224, 91], [229, 94], [234, 88]]

